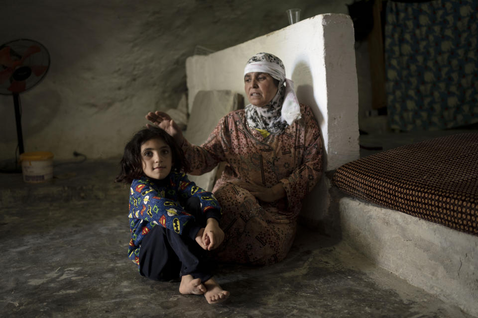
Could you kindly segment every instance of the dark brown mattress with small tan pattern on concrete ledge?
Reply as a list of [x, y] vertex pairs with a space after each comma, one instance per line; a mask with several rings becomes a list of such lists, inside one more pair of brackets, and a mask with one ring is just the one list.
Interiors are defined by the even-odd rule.
[[337, 169], [345, 193], [478, 235], [478, 133], [440, 137]]

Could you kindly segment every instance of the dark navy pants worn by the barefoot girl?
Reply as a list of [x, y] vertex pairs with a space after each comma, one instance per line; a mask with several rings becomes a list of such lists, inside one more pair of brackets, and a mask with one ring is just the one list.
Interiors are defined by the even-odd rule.
[[[185, 210], [195, 216], [195, 223], [206, 226], [198, 198], [189, 198]], [[155, 226], [141, 241], [139, 273], [152, 280], [177, 281], [192, 275], [205, 282], [213, 275], [206, 251], [187, 235]]]

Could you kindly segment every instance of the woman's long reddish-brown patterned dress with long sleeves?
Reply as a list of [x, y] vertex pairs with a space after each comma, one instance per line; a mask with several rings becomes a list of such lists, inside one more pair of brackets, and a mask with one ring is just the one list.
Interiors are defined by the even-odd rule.
[[[300, 105], [302, 118], [281, 135], [262, 137], [247, 125], [244, 110], [224, 116], [201, 146], [185, 140], [182, 149], [193, 175], [226, 167], [213, 193], [222, 206], [224, 242], [214, 251], [223, 262], [271, 264], [282, 260], [296, 232], [296, 219], [305, 195], [322, 175], [322, 140], [311, 109]], [[238, 181], [265, 187], [281, 182], [286, 198], [266, 203], [239, 187]], [[278, 215], [288, 224], [276, 223]]]

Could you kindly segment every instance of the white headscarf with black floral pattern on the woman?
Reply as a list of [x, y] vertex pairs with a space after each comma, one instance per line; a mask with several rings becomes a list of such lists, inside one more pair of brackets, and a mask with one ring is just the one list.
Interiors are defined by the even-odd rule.
[[247, 61], [244, 75], [252, 72], [267, 73], [279, 80], [279, 85], [277, 93], [267, 105], [245, 106], [247, 124], [251, 128], [266, 130], [272, 135], [280, 135], [288, 125], [292, 125], [296, 119], [300, 118], [300, 106], [294, 93], [294, 82], [285, 78], [282, 61], [270, 53], [257, 53]]

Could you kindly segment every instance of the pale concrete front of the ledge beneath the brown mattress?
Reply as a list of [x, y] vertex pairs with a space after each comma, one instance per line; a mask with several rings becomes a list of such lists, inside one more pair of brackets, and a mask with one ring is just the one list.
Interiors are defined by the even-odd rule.
[[377, 266], [478, 316], [477, 236], [352, 197], [337, 199], [340, 234], [351, 246]]

